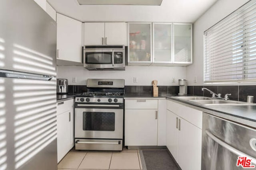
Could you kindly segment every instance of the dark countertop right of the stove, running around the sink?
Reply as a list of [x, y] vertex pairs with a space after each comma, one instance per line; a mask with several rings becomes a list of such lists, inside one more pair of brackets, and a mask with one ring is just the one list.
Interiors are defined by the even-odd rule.
[[[167, 99], [175, 100], [185, 106], [194, 107], [195, 109], [201, 110], [203, 112], [222, 117], [224, 119], [230, 119], [231, 121], [236, 121], [245, 125], [256, 128], [256, 104], [239, 106], [239, 105], [212, 105], [205, 106], [196, 103], [192, 103], [189, 100], [182, 100], [177, 98], [172, 98], [178, 95], [172, 94], [161, 94], [158, 97], [153, 97], [150, 94], [125, 94], [124, 98], [160, 98], [165, 97]], [[192, 95], [188, 95], [192, 96]]]

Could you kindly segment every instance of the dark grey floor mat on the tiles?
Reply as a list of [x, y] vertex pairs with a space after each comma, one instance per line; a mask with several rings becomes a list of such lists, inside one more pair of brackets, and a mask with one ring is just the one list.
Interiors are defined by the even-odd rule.
[[142, 154], [146, 170], [179, 170], [167, 150], [142, 150]]

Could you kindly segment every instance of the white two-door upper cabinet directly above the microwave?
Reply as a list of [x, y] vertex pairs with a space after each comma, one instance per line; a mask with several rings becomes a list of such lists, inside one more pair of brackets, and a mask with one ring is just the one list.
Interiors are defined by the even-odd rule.
[[124, 22], [85, 22], [84, 45], [124, 45]]

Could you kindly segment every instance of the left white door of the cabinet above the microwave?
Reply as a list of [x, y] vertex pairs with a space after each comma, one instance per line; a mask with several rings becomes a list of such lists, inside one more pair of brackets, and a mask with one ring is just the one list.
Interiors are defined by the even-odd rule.
[[105, 23], [84, 23], [84, 45], [104, 45]]

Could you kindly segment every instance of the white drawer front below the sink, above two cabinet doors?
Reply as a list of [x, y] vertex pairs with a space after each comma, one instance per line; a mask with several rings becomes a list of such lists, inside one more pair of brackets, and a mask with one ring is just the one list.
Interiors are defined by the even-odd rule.
[[167, 100], [167, 109], [202, 129], [202, 111]]

